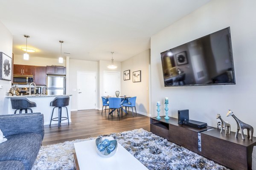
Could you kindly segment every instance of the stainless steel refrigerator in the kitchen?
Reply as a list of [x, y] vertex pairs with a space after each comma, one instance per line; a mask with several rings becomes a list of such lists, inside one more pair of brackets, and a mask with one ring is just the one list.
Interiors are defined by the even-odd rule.
[[66, 94], [66, 76], [47, 76], [47, 94], [63, 95]]

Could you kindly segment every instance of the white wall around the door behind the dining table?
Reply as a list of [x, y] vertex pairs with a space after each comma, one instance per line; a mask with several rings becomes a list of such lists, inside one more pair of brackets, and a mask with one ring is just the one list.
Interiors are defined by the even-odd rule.
[[[103, 88], [104, 88], [104, 71], [116, 71], [116, 72], [120, 72], [121, 74], [121, 62], [116, 62], [114, 61], [114, 65], [117, 65], [116, 69], [109, 69], [107, 66], [111, 64], [111, 61], [103, 61], [103, 60], [99, 60], [99, 87], [98, 87], [98, 100], [99, 100], [99, 104], [96, 105], [98, 106], [98, 108], [101, 110], [102, 109], [102, 98], [101, 96], [104, 96], [104, 92], [103, 92]], [[120, 85], [121, 85], [121, 75], [120, 75]], [[122, 91], [120, 91], [122, 93]]]

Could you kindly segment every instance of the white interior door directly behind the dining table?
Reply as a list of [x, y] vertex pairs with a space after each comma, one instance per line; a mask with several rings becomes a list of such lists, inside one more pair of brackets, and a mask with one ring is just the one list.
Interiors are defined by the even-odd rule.
[[116, 96], [115, 91], [120, 91], [120, 72], [104, 72], [104, 96]]

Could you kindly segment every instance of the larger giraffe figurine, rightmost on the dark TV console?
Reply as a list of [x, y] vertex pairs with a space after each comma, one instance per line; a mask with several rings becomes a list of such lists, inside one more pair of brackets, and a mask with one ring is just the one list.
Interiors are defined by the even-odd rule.
[[253, 140], [253, 127], [251, 125], [248, 125], [241, 120], [239, 120], [234, 113], [231, 110], [228, 110], [227, 116], [232, 116], [236, 120], [236, 135], [235, 137], [237, 138], [239, 130], [241, 130], [241, 136], [242, 139], [244, 140], [244, 129], [247, 129], [247, 138], [250, 138], [250, 140]]

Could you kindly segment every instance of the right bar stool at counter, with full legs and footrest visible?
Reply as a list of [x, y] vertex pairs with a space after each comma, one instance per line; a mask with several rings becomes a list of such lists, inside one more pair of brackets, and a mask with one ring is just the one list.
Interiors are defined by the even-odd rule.
[[[69, 96], [64, 96], [64, 97], [55, 97], [55, 99], [52, 100], [52, 102], [50, 103], [50, 106], [54, 106], [54, 108], [52, 109], [52, 115], [53, 115], [54, 109], [58, 108], [58, 117], [55, 117], [55, 118], [51, 117], [50, 127], [51, 127], [52, 121], [58, 121], [58, 127], [60, 127], [61, 121], [63, 120], [67, 120], [69, 125], [68, 111], [67, 111], [67, 117], [62, 117], [62, 107], [65, 107], [67, 110], [66, 106], [69, 105], [69, 99], [70, 99]], [[58, 120], [55, 120], [55, 119], [58, 119]]]

